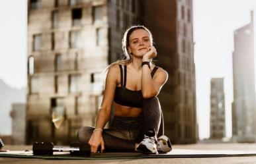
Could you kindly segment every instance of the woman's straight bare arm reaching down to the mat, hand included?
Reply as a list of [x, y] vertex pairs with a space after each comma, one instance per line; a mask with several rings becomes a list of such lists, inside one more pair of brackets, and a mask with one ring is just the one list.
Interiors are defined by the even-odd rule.
[[102, 136], [102, 129], [107, 124], [110, 113], [112, 102], [114, 99], [114, 91], [116, 90], [117, 84], [117, 75], [118, 75], [118, 66], [114, 65], [109, 68], [106, 78], [105, 84], [105, 92], [103, 95], [103, 102], [101, 103], [101, 109], [97, 116], [95, 130], [89, 140], [89, 145], [91, 146], [91, 152], [96, 153], [98, 147], [101, 145], [101, 151], [105, 149], [103, 136]]

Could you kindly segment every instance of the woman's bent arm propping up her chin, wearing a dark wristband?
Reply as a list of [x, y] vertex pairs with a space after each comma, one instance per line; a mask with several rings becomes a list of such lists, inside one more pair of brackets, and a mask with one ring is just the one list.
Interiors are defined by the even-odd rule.
[[[151, 49], [146, 53], [142, 59], [142, 61], [149, 61], [153, 57], [156, 57], [157, 53], [155, 47], [151, 47]], [[151, 71], [148, 65], [142, 66], [142, 96], [145, 99], [155, 97], [159, 94], [163, 84], [167, 82], [168, 74], [162, 68], [158, 68], [157, 72], [155, 72], [155, 76], [153, 79], [151, 77]]]

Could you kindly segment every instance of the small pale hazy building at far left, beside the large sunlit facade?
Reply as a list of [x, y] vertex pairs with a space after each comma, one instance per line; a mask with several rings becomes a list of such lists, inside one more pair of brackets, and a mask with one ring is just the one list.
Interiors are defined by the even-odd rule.
[[12, 140], [15, 145], [26, 144], [26, 105], [24, 103], [13, 103], [11, 119], [13, 124]]

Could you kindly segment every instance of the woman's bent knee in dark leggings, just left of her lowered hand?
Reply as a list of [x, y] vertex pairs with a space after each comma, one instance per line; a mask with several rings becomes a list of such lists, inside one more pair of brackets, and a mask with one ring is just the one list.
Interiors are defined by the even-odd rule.
[[94, 128], [91, 126], [83, 126], [77, 130], [77, 140], [81, 143], [89, 142]]

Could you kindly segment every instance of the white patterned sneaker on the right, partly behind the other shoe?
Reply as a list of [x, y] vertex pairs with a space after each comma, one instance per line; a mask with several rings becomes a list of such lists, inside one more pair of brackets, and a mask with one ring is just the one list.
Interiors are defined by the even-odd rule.
[[157, 151], [161, 153], [168, 153], [171, 150], [172, 148], [169, 138], [165, 135], [159, 136], [159, 138], [157, 138]]

